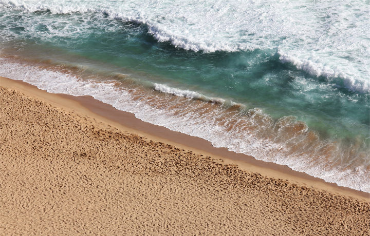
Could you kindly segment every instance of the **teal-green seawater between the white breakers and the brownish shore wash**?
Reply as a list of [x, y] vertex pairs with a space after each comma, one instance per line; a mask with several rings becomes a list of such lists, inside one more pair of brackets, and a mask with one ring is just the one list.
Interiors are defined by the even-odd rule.
[[[110, 65], [110, 72], [135, 71], [143, 80], [181, 89], [191, 88], [209, 96], [246, 104], [249, 108], [258, 107], [274, 119], [294, 115], [326, 137], [360, 135], [364, 139], [369, 136], [368, 93], [349, 91], [328, 81], [325, 76], [313, 76], [282, 63], [277, 49], [194, 52], [175, 48], [169, 42], [158, 42], [148, 33], [146, 25], [112, 21], [100, 14], [76, 13], [78, 17], [48, 11], [26, 16], [20, 11], [12, 14], [14, 25], [8, 21], [1, 27], [22, 36], [15, 37], [21, 41], [11, 43], [12, 47], [14, 44], [20, 44], [21, 50], [25, 50], [27, 44], [39, 47], [32, 52], [33, 56], [53, 58], [54, 54], [48, 52], [57, 48], [66, 55], [79, 55], [93, 64], [103, 62], [103, 69], [107, 71], [109, 67], [105, 66]], [[7, 15], [8, 12], [3, 12], [0, 16], [5, 18]], [[22, 21], [16, 17], [19, 15], [28, 19]], [[66, 22], [78, 27], [81, 18], [88, 27], [73, 36], [54, 35], [45, 41], [42, 35], [48, 33], [48, 28], [44, 24], [34, 26], [37, 34], [25, 30], [32, 17], [38, 17], [38, 22], [58, 23], [54, 30], [64, 29]], [[65, 24], [60, 23], [60, 18]], [[107, 26], [108, 30], [102, 26]], [[49, 49], [43, 51], [45, 46]], [[73, 62], [73, 59], [69, 60]]]

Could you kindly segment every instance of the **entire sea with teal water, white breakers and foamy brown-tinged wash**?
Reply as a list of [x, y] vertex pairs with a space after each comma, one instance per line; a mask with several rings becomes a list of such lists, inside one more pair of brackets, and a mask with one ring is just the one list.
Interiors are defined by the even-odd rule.
[[0, 0], [0, 75], [370, 192], [369, 9]]

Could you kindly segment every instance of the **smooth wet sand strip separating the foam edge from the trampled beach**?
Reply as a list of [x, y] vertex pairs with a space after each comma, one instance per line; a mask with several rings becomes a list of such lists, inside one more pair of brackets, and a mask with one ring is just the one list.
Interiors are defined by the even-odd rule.
[[[97, 121], [111, 125], [123, 132], [130, 132], [146, 137], [148, 140], [163, 142], [180, 149], [193, 151], [204, 156], [212, 156], [219, 163], [236, 164], [241, 170], [260, 173], [269, 178], [287, 180], [292, 184], [324, 190], [334, 194], [350, 196], [361, 201], [370, 202], [370, 193], [335, 183], [327, 183], [304, 172], [294, 171], [287, 166], [254, 159], [252, 156], [228, 151], [227, 148], [216, 148], [209, 141], [199, 137], [169, 130], [168, 128], [143, 122], [130, 112], [114, 108], [112, 105], [95, 100], [92, 96], [72, 96], [67, 94], [48, 93], [23, 81], [0, 77], [0, 86], [15, 89], [59, 108], [76, 111]], [[134, 127], [134, 128], [133, 128]], [[221, 161], [222, 160], [222, 161]]]

